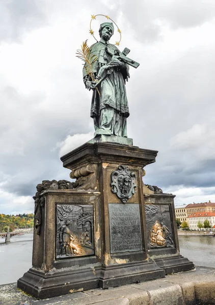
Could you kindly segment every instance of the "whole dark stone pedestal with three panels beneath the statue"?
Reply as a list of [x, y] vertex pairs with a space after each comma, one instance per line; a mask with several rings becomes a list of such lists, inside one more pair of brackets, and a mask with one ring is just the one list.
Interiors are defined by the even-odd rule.
[[[143, 168], [156, 155], [136, 146], [95, 142], [63, 156], [63, 166], [76, 178], [75, 189], [41, 192], [33, 267], [18, 280], [18, 288], [46, 298], [194, 268], [179, 254], [174, 196], [144, 198]], [[166, 231], [163, 242], [160, 226]]]

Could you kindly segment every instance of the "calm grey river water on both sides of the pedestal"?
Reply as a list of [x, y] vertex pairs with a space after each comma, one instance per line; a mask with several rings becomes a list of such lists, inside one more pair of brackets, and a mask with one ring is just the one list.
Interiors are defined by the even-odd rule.
[[[180, 253], [196, 266], [215, 268], [215, 237], [179, 236]], [[32, 266], [33, 233], [0, 239], [0, 285], [16, 282]]]

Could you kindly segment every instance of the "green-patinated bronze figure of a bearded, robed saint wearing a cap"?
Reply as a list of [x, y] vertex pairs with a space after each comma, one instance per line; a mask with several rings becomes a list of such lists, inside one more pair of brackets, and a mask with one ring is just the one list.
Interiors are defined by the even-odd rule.
[[90, 56], [97, 56], [92, 66], [95, 81], [85, 68], [83, 77], [86, 88], [93, 89], [90, 116], [94, 119], [95, 131], [100, 134], [109, 134], [107, 131], [110, 131], [112, 135], [127, 137], [129, 109], [125, 81], [129, 78], [128, 65], [125, 60], [120, 60], [119, 49], [109, 43], [113, 34], [113, 23], [104, 22], [100, 25], [101, 39], [90, 47]]

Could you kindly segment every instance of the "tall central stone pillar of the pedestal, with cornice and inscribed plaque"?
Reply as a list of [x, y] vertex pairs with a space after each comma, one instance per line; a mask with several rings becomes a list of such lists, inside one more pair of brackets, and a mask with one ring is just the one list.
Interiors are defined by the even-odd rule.
[[[164, 269], [148, 259], [142, 182], [143, 167], [155, 162], [156, 155], [157, 151], [136, 146], [95, 142], [61, 158], [63, 166], [72, 171], [70, 176], [80, 181], [86, 166], [93, 169], [94, 180], [89, 177], [80, 187], [100, 192], [101, 288], [164, 277]], [[121, 175], [122, 180], [135, 177], [129, 198], [120, 198], [118, 186], [113, 186], [114, 175]]]

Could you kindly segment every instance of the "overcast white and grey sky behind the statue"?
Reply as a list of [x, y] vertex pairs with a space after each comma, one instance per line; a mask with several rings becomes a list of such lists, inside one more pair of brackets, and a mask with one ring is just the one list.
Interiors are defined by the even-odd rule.
[[126, 85], [128, 137], [159, 150], [144, 182], [176, 194], [177, 205], [215, 202], [214, 0], [2, 0], [0, 212], [32, 212], [36, 185], [69, 179], [60, 157], [93, 137], [75, 57], [95, 42], [91, 14], [109, 15], [119, 48], [140, 63]]

